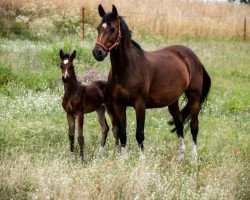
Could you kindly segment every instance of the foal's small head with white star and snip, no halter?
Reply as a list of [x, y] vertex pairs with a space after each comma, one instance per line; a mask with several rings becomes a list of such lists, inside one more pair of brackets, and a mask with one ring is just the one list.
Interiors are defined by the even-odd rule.
[[71, 55], [64, 54], [63, 50], [60, 50], [61, 58], [61, 70], [62, 70], [62, 81], [68, 83], [72, 78], [75, 77], [75, 71], [73, 66], [73, 60], [76, 57], [76, 51], [74, 50]]

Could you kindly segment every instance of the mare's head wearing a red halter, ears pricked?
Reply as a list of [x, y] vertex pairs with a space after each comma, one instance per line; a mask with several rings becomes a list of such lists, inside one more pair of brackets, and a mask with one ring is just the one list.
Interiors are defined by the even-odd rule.
[[102, 21], [97, 26], [98, 38], [93, 49], [93, 55], [97, 61], [103, 61], [108, 53], [120, 42], [120, 19], [114, 5], [112, 12], [106, 13], [100, 4], [98, 12]]

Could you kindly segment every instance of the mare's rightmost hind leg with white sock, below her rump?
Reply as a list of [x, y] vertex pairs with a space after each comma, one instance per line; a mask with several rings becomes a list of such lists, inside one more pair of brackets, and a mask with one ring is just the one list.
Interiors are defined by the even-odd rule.
[[191, 134], [193, 138], [193, 148], [192, 148], [192, 156], [194, 160], [197, 160], [197, 135], [199, 131], [199, 120], [198, 115], [200, 112], [200, 96], [195, 93], [190, 93], [188, 97], [188, 103], [190, 107], [190, 114], [191, 114]]

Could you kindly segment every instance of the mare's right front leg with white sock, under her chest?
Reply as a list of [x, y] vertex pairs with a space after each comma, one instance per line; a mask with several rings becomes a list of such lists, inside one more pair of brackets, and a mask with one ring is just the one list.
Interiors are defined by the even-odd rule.
[[145, 102], [141, 99], [135, 102], [135, 113], [136, 113], [136, 140], [138, 142], [140, 156], [139, 160], [144, 160], [144, 125], [145, 125]]

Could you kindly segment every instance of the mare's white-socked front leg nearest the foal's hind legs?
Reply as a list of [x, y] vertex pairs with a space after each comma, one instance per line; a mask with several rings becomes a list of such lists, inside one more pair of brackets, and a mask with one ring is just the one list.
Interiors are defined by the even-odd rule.
[[113, 102], [114, 117], [118, 128], [118, 137], [121, 143], [121, 153], [124, 160], [128, 159], [127, 155], [127, 135], [126, 135], [126, 107]]

